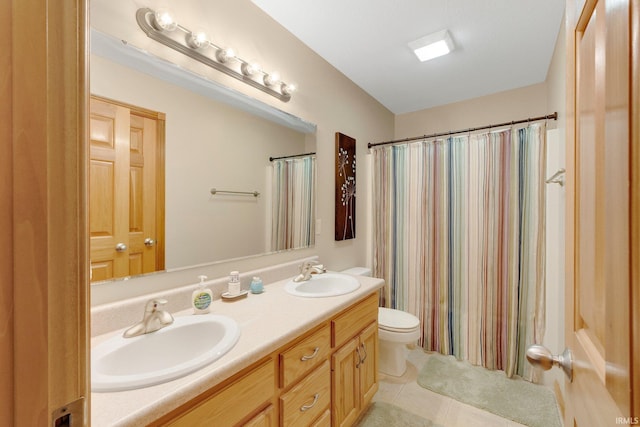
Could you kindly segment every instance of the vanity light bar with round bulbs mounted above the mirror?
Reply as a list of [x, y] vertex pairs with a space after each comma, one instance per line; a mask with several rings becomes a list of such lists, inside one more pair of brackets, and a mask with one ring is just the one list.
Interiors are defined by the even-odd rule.
[[[140, 8], [136, 21], [147, 37], [281, 101], [289, 101], [296, 90], [295, 84], [280, 80], [277, 72], [267, 73], [260, 65], [239, 58], [233, 49], [215, 45], [204, 32], [183, 27], [166, 11]], [[205, 52], [211, 49], [213, 55], [206, 55]]]

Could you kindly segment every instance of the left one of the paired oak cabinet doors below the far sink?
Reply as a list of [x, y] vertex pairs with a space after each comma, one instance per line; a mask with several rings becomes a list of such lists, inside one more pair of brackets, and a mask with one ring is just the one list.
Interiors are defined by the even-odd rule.
[[358, 368], [358, 337], [347, 342], [331, 356], [332, 424], [350, 426], [360, 412], [360, 379]]

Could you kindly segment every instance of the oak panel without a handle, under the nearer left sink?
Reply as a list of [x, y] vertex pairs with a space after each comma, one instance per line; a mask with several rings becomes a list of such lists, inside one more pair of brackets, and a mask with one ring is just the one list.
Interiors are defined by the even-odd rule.
[[273, 396], [275, 361], [269, 359], [204, 402], [169, 423], [170, 426], [234, 425]]

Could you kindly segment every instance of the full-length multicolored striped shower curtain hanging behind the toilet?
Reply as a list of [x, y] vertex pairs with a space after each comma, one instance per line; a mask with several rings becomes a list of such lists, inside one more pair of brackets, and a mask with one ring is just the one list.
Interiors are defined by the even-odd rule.
[[545, 125], [373, 149], [382, 305], [420, 345], [531, 379], [544, 332]]

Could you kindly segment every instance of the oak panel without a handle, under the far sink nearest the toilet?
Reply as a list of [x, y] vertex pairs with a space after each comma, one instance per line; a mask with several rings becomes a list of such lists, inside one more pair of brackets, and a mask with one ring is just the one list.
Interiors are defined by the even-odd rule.
[[338, 315], [331, 321], [331, 346], [338, 348], [356, 336], [371, 322], [378, 321], [378, 293], [373, 293], [362, 302]]

